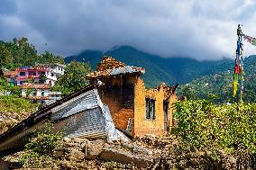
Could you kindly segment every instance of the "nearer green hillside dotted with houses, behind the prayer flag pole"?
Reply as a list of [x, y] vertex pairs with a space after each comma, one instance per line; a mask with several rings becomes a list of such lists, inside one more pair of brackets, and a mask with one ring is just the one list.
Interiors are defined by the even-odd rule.
[[[245, 103], [256, 102], [256, 56], [244, 58], [244, 94]], [[223, 64], [216, 68], [216, 73], [201, 76], [191, 81], [187, 85], [180, 85], [178, 94], [187, 95], [189, 98], [207, 98], [211, 94], [216, 94], [217, 103], [232, 102], [233, 89], [233, 65]]]

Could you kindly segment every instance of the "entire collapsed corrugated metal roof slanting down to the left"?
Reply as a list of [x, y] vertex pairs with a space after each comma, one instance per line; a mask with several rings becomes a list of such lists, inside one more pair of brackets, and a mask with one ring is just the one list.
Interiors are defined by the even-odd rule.
[[[48, 119], [54, 121], [57, 130], [66, 137], [84, 137], [88, 139], [114, 139], [114, 122], [106, 112], [95, 88], [87, 87], [78, 94], [72, 94], [57, 103], [52, 103], [41, 111], [32, 114], [28, 119], [16, 125], [0, 136], [0, 155], [14, 153], [21, 149], [33, 130], [41, 130]], [[5, 140], [4, 140], [5, 139]], [[8, 152], [8, 154], [7, 154]]]

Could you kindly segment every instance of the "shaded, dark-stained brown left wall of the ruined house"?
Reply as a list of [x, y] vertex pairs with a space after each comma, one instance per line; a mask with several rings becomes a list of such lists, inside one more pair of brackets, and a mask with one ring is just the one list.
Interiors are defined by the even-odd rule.
[[116, 76], [101, 79], [105, 84], [99, 88], [100, 98], [110, 112], [117, 129], [130, 131], [133, 135], [134, 81], [133, 76]]

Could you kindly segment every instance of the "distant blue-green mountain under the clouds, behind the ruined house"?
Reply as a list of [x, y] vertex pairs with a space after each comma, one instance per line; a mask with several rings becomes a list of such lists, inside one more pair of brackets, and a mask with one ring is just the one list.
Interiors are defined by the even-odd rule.
[[65, 58], [66, 62], [78, 60], [89, 62], [93, 69], [96, 69], [102, 55], [112, 56], [127, 65], [145, 67], [146, 73], [143, 76], [145, 84], [154, 87], [160, 82], [169, 85], [184, 84], [198, 76], [215, 73], [219, 66], [230, 65], [233, 60], [223, 58], [217, 61], [198, 61], [194, 58], [161, 58], [130, 46], [114, 47], [105, 53], [96, 50], [85, 50], [78, 55]]

